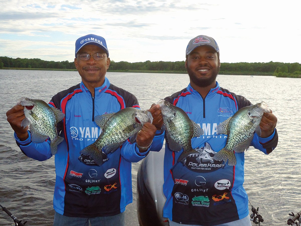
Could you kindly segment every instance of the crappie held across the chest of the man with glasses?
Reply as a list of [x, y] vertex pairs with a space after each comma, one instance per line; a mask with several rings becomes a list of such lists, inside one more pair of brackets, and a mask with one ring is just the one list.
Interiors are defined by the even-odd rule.
[[107, 154], [118, 149], [125, 140], [130, 138], [130, 143], [134, 143], [139, 130], [146, 122], [152, 123], [153, 117], [149, 111], [124, 108], [116, 113], [97, 115], [94, 121], [102, 132], [94, 143], [80, 152], [90, 155], [96, 164], [102, 165]]

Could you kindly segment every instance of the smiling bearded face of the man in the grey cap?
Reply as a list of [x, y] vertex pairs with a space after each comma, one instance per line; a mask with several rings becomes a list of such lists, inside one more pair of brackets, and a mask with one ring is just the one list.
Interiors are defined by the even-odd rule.
[[217, 52], [210, 46], [195, 48], [185, 61], [190, 83], [199, 87], [215, 86], [220, 66]]

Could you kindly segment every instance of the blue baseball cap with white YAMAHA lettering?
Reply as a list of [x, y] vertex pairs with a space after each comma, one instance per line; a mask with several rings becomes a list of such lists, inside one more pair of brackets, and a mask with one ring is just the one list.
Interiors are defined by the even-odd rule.
[[106, 40], [101, 36], [89, 34], [89, 35], [82, 36], [76, 40], [76, 42], [75, 42], [75, 58], [76, 58], [77, 52], [83, 46], [85, 46], [87, 44], [99, 46], [101, 49], [103, 49], [107, 53], [107, 56], [109, 57], [109, 51], [107, 48]]

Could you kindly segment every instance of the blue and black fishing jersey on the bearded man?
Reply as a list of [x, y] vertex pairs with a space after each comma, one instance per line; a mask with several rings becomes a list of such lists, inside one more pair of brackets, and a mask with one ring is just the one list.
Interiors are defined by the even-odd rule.
[[[246, 217], [249, 210], [243, 187], [244, 152], [235, 153], [237, 164], [234, 166], [216, 161], [213, 156], [225, 147], [227, 141], [227, 135], [216, 134], [217, 125], [238, 109], [251, 105], [250, 101], [221, 88], [217, 82], [204, 99], [189, 84], [165, 100], [182, 108], [191, 120], [200, 124], [205, 134], [192, 138], [192, 148], [199, 154], [189, 155], [185, 164], [177, 162], [183, 149], [174, 152], [166, 141], [163, 216], [177, 223], [197, 225], [224, 224]], [[156, 136], [153, 144], [163, 144], [164, 134], [161, 138]], [[275, 130], [268, 138], [255, 134], [251, 145], [269, 154], [277, 143]]]

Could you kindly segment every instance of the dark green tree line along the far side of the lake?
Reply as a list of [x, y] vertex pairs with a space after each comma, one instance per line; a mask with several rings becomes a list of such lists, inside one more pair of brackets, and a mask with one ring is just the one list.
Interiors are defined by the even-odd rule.
[[[75, 70], [73, 61], [44, 61], [38, 58], [10, 58], [0, 56], [0, 69], [8, 68], [46, 68], [46, 69], [71, 69]], [[130, 63], [127, 61], [111, 61], [108, 71], [178, 71], [186, 72], [185, 61], [145, 61]], [[301, 64], [299, 63], [221, 63], [220, 74], [264, 74], [290, 77], [290, 75], [301, 76]]]

